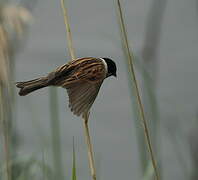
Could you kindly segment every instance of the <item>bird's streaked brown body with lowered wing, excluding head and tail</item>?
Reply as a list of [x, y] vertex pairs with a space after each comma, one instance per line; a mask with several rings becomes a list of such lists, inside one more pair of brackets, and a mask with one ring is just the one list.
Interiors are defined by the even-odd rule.
[[88, 112], [106, 77], [106, 68], [98, 58], [81, 58], [65, 64], [48, 75], [51, 84], [67, 89], [69, 107], [80, 116]]

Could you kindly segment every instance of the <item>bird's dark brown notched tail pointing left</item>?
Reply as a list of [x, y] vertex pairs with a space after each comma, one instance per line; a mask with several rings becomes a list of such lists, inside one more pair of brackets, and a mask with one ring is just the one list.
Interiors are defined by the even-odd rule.
[[37, 89], [44, 88], [49, 85], [48, 79], [46, 77], [33, 79], [31, 81], [26, 82], [17, 82], [16, 87], [20, 88], [19, 95], [25, 96]]

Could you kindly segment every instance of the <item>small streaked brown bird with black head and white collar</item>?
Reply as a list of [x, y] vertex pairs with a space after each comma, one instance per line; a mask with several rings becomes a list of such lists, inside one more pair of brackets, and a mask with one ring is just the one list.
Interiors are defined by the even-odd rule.
[[69, 108], [76, 116], [89, 113], [104, 79], [117, 77], [116, 63], [107, 57], [83, 57], [72, 60], [47, 76], [25, 82], [17, 82], [19, 95], [25, 96], [38, 89], [57, 86], [67, 90]]

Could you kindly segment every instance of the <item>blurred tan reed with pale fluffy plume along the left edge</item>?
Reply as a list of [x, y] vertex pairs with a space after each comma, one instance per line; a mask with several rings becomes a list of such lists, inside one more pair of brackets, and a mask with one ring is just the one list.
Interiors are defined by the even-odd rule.
[[0, 13], [0, 106], [1, 135], [3, 137], [4, 178], [13, 178], [12, 158], [17, 149], [15, 119], [13, 118], [14, 103], [14, 55], [16, 46], [25, 33], [26, 26], [31, 21], [31, 15], [23, 7], [11, 4], [1, 4]]

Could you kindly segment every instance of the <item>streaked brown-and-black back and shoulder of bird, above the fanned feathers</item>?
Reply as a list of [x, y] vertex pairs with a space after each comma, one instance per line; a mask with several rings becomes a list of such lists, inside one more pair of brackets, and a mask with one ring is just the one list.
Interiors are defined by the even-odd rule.
[[66, 87], [79, 80], [101, 81], [105, 78], [104, 64], [98, 58], [86, 57], [70, 61], [48, 75], [51, 84]]

